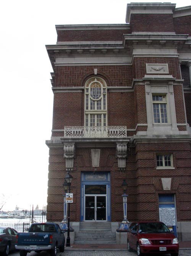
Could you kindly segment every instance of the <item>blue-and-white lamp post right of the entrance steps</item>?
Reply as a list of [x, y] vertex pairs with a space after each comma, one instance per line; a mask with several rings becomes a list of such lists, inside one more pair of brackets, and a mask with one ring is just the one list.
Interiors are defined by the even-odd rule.
[[123, 188], [123, 221], [120, 224], [120, 227], [116, 230], [117, 232], [127, 232], [128, 231], [128, 223], [127, 220], [127, 197], [126, 191], [127, 191], [127, 183], [126, 180], [123, 180], [123, 183], [121, 184], [121, 187]]

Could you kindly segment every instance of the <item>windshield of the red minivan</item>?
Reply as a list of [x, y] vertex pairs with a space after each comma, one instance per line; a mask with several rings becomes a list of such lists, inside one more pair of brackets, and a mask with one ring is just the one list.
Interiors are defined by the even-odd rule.
[[170, 232], [164, 223], [140, 223], [139, 232], [141, 233], [167, 233]]

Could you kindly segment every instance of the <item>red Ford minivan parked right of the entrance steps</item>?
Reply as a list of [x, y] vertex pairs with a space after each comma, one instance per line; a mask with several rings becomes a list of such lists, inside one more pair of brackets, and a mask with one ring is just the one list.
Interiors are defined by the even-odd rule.
[[127, 234], [128, 251], [143, 254], [167, 254], [178, 256], [178, 239], [160, 221], [138, 221], [131, 223]]

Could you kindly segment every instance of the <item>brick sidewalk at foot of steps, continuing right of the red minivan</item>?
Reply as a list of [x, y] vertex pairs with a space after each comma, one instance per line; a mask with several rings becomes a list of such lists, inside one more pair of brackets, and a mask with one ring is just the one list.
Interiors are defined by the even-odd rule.
[[[191, 249], [191, 241], [179, 242], [180, 250]], [[126, 251], [127, 244], [71, 244], [71, 247], [65, 247], [67, 251], [75, 250], [120, 250]]]

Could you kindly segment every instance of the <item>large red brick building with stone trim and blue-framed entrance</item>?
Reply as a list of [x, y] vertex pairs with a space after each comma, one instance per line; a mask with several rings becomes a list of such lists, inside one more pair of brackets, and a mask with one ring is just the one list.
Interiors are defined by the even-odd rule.
[[[56, 25], [47, 220], [162, 220], [191, 239], [191, 6], [130, 3], [126, 24]], [[97, 207], [96, 207], [97, 206]]]

